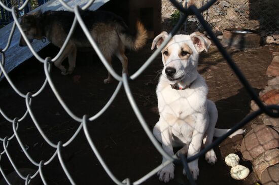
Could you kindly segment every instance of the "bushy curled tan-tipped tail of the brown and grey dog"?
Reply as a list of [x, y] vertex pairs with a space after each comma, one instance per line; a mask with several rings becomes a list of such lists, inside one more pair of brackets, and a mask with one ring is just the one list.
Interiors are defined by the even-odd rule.
[[131, 34], [128, 27], [125, 27], [124, 30], [122, 27], [122, 29], [118, 31], [118, 34], [123, 44], [134, 51], [142, 48], [146, 44], [148, 38], [147, 30], [140, 21], [136, 22], [135, 34]]

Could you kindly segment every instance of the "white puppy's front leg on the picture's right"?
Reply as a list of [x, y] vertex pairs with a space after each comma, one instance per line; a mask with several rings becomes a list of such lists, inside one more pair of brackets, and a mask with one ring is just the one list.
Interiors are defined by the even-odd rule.
[[[188, 158], [194, 156], [195, 154], [199, 153], [202, 139], [204, 136], [204, 132], [207, 127], [207, 121], [206, 121], [206, 114], [204, 113], [198, 113], [196, 116], [196, 125], [195, 129], [193, 131], [192, 135], [192, 141], [189, 145], [188, 150]], [[198, 178], [199, 174], [199, 168], [198, 168], [198, 159], [192, 161], [189, 163], [189, 169], [193, 175], [193, 178], [196, 180]], [[183, 174], [186, 175], [185, 170], [183, 170]]]

